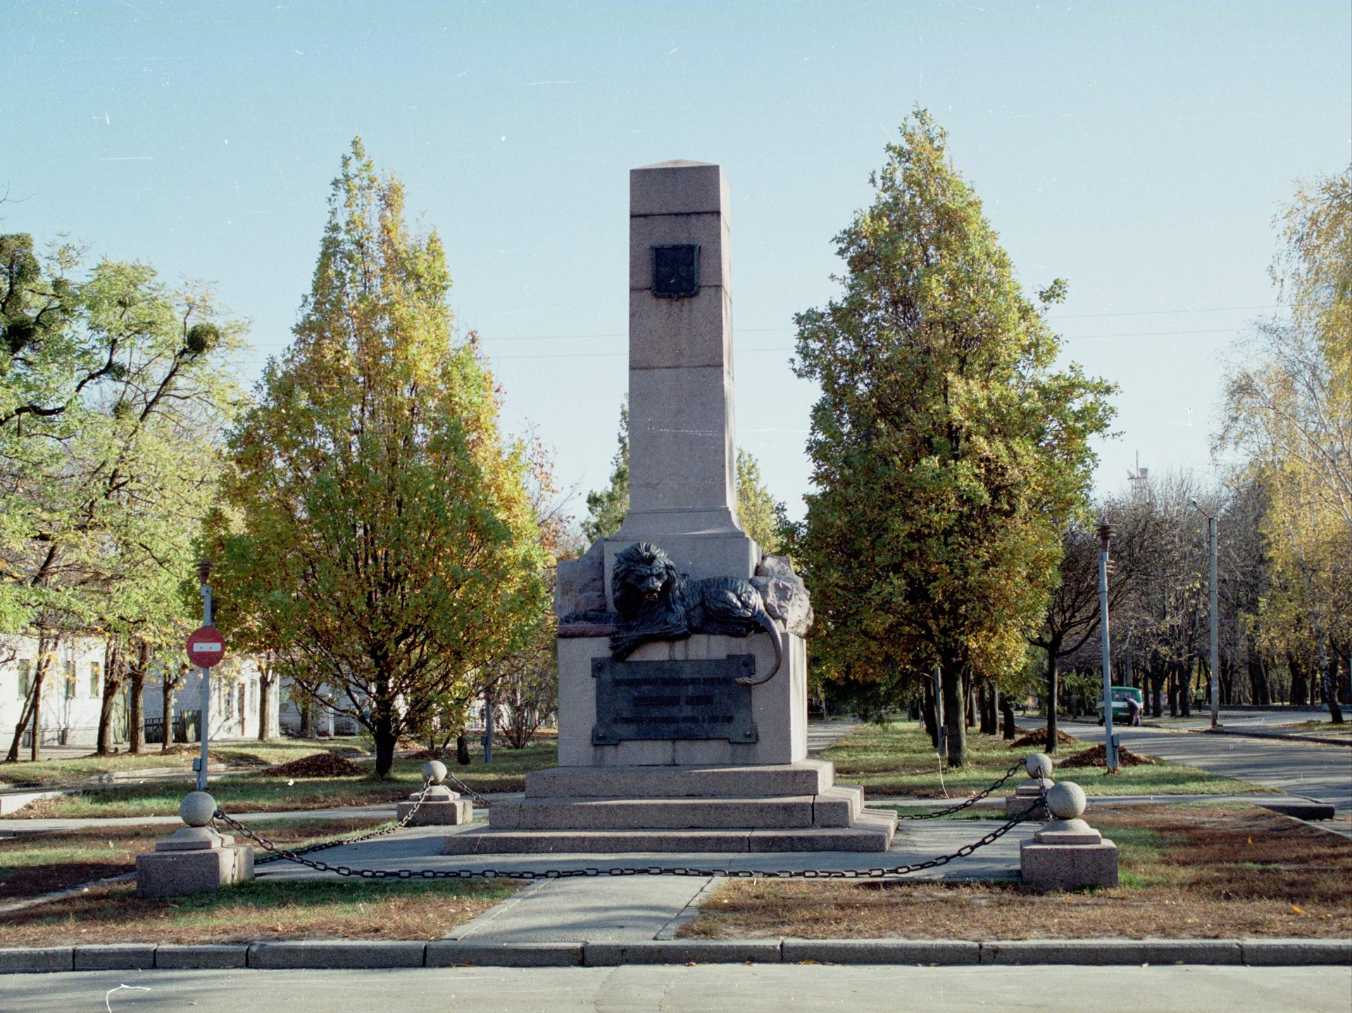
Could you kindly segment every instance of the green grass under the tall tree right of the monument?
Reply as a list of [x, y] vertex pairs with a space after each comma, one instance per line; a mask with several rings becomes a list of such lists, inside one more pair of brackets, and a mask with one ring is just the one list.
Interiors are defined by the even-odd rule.
[[[1086, 744], [1083, 748], [1087, 748]], [[914, 721], [892, 721], [886, 725], [860, 725], [836, 745], [822, 753], [836, 763], [836, 774], [852, 784], [863, 784], [872, 795], [918, 795], [942, 799], [961, 799], [973, 791], [983, 791], [991, 782], [1033, 749], [1010, 749], [996, 736], [968, 732], [968, 763], [960, 768], [944, 767], [925, 728]], [[1057, 759], [1078, 752], [1076, 745], [1061, 745]], [[1101, 768], [1080, 767], [1057, 775], [1073, 780], [1088, 795], [1211, 795], [1230, 793], [1261, 793], [1271, 788], [1226, 778], [1220, 774], [1160, 761], [1140, 767], [1124, 767], [1118, 774], [1106, 775]], [[1022, 778], [1015, 774], [999, 790], [1013, 790]]]

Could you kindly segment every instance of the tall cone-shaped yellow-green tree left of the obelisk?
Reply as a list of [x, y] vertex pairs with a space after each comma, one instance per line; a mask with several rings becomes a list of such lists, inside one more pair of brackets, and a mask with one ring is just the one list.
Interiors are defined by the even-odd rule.
[[526, 450], [498, 429], [477, 341], [457, 341], [435, 233], [353, 142], [295, 342], [230, 437], [222, 623], [250, 617], [279, 667], [395, 743], [546, 607]]

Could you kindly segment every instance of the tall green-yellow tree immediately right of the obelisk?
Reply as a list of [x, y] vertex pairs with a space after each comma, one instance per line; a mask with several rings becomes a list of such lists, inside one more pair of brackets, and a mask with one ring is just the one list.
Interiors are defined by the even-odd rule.
[[1111, 388], [1052, 369], [1059, 342], [944, 131], [917, 111], [900, 133], [873, 204], [836, 238], [842, 295], [796, 318], [795, 368], [822, 391], [798, 548], [825, 671], [914, 679], [938, 665], [960, 765], [964, 678], [1022, 669]]

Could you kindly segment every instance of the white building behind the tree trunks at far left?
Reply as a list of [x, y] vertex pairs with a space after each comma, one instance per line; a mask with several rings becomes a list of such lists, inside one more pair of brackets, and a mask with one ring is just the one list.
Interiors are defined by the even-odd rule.
[[[99, 736], [99, 713], [103, 707], [104, 641], [99, 637], [72, 637], [57, 644], [42, 687], [39, 743], [42, 745], [89, 745]], [[19, 724], [31, 680], [38, 668], [38, 638], [30, 636], [0, 637], [0, 729]], [[142, 717], [146, 741], [158, 743], [164, 725], [165, 665], [151, 667], [142, 690]], [[227, 659], [211, 672], [211, 738], [257, 738], [260, 669], [251, 657]], [[191, 741], [201, 711], [201, 679], [197, 669], [170, 683], [169, 726], [187, 732]], [[269, 737], [279, 730], [279, 692], [272, 692]], [[112, 741], [126, 744], [128, 736], [130, 686], [123, 686], [114, 702]], [[30, 725], [31, 728], [31, 725]], [[28, 743], [31, 732], [24, 734]], [[5, 740], [5, 744], [8, 740]]]

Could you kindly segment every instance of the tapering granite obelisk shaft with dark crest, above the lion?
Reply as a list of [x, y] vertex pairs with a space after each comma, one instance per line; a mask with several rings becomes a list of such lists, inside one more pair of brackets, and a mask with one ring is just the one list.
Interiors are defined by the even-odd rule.
[[727, 183], [717, 165], [629, 174], [629, 513], [614, 555], [658, 542], [692, 578], [750, 578], [737, 521]]

